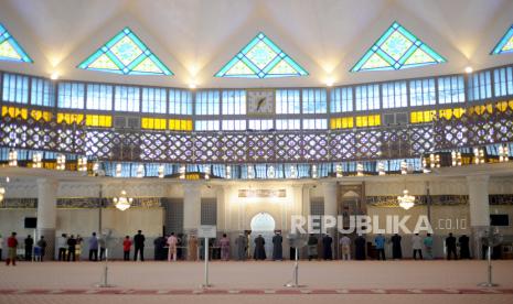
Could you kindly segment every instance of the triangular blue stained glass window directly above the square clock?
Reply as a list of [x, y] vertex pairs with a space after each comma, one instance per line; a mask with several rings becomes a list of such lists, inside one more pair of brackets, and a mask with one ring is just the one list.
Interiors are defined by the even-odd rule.
[[271, 78], [306, 76], [308, 72], [290, 58], [264, 33], [258, 33], [216, 77]]

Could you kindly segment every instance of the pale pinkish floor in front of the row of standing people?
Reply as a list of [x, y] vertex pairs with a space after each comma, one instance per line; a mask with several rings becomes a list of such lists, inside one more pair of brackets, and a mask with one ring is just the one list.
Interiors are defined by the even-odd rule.
[[494, 289], [483, 261], [301, 261], [300, 289], [293, 263], [271, 261], [210, 263], [212, 287], [202, 289], [202, 262], [109, 262], [109, 289], [99, 262], [0, 264], [0, 303], [513, 303], [513, 261], [494, 262]]

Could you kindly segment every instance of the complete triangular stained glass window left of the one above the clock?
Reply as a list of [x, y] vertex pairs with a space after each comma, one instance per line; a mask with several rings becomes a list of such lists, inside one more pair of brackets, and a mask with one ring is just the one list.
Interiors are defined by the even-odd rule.
[[98, 48], [78, 68], [125, 75], [173, 75], [128, 28]]

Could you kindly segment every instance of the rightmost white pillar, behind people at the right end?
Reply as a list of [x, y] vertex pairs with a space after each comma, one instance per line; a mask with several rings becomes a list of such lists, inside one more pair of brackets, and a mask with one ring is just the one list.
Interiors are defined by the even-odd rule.
[[467, 176], [469, 188], [470, 227], [474, 240], [474, 258], [481, 257], [481, 237], [490, 227], [489, 175]]

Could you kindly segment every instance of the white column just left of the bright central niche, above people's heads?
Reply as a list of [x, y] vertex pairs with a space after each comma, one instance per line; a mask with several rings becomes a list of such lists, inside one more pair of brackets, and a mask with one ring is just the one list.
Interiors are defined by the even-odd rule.
[[183, 230], [197, 229], [201, 225], [201, 183], [183, 184]]

